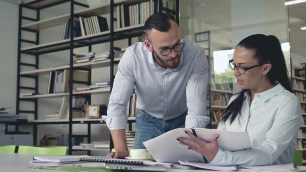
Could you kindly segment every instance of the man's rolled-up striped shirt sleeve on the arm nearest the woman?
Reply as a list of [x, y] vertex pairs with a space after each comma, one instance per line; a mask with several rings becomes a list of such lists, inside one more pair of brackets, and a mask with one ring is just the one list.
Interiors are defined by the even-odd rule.
[[209, 124], [206, 116], [206, 93], [208, 85], [208, 63], [204, 50], [196, 53], [194, 68], [186, 85], [188, 115], [186, 128], [205, 128]]

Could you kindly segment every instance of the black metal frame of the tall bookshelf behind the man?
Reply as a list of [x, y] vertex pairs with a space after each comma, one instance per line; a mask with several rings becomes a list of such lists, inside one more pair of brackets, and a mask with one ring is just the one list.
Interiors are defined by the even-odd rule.
[[[145, 0], [143, 0], [144, 2]], [[146, 0], [148, 1], [148, 0]], [[162, 0], [153, 0], [154, 2], [158, 2], [161, 4]], [[134, 1], [133, 3], [135, 3]], [[63, 3], [70, 3], [70, 19], [73, 19], [77, 15], [74, 14], [74, 5], [75, 6], [81, 6], [85, 8], [89, 8], [88, 5], [82, 4], [75, 2], [74, 0], [36, 0], [32, 1], [30, 3], [25, 3], [19, 5], [19, 20], [18, 20], [18, 64], [17, 64], [17, 99], [16, 99], [16, 114], [19, 113], [32, 113], [34, 114], [34, 119], [38, 119], [38, 99], [20, 99], [20, 90], [26, 89], [26, 90], [33, 90], [35, 94], [38, 94], [38, 76], [33, 76], [33, 75], [21, 75], [21, 66], [31, 66], [34, 67], [35, 69], [39, 69], [39, 55], [41, 54], [46, 54], [46, 53], [51, 53], [51, 52], [58, 52], [62, 50], [69, 50], [70, 55], [69, 55], [69, 82], [70, 82], [70, 88], [69, 88], [69, 120], [68, 121], [44, 121], [44, 122], [25, 122], [25, 121], [17, 121], [17, 122], [0, 122], [0, 123], [5, 123], [6, 126], [8, 125], [15, 125], [16, 126], [16, 133], [19, 133], [19, 126], [20, 125], [33, 125], [33, 143], [34, 145], [37, 145], [37, 126], [38, 125], [45, 125], [45, 124], [68, 124], [68, 154], [72, 153], [72, 124], [87, 124], [88, 125], [88, 133], [87, 133], [87, 138], [88, 142], [91, 141], [91, 124], [105, 124], [105, 122], [101, 121], [73, 121], [72, 120], [72, 110], [79, 110], [79, 109], [73, 109], [72, 108], [72, 83], [74, 81], [72, 80], [73, 78], [73, 70], [75, 69], [83, 69], [82, 67], [73, 67], [73, 48], [79, 48], [79, 47], [85, 47], [88, 46], [88, 51], [92, 51], [92, 45], [94, 44], [100, 44], [100, 43], [105, 43], [105, 42], [110, 42], [110, 87], [112, 90], [113, 87], [113, 81], [114, 81], [114, 64], [118, 64], [118, 61], [114, 61], [114, 41], [117, 40], [122, 40], [122, 39], [127, 39], [128, 45], [131, 45], [132, 38], [133, 37], [138, 37], [143, 34], [144, 27], [139, 26], [135, 28], [130, 28], [126, 30], [120, 30], [120, 31], [114, 31], [114, 21], [117, 19], [114, 18], [114, 7], [119, 4], [114, 4], [114, 0], [110, 0], [110, 32], [101, 34], [101, 35], [94, 35], [91, 37], [86, 37], [83, 39], [77, 39], [75, 40], [73, 37], [70, 37], [69, 40], [62, 41], [60, 43], [54, 43], [50, 45], [45, 45], [45, 46], [39, 46], [39, 47], [34, 47], [30, 49], [25, 49], [21, 50], [21, 43], [30, 43], [34, 45], [39, 45], [39, 31], [32, 30], [32, 29], [26, 29], [22, 28], [22, 20], [28, 20], [28, 21], [39, 21], [40, 20], [40, 11], [43, 9], [47, 9], [50, 7], [54, 7], [57, 5], [61, 5]], [[179, 24], [179, 0], [176, 0], [176, 7], [177, 7], [177, 15], [176, 15], [176, 20], [177, 23]], [[36, 18], [30, 18], [23, 16], [22, 11], [23, 8], [25, 9], [30, 9], [36, 12]], [[70, 35], [73, 35], [73, 22], [70, 20]], [[31, 32], [34, 33], [36, 36], [36, 41], [32, 40], [27, 40], [27, 39], [22, 39], [22, 32]], [[28, 55], [33, 55], [35, 56], [35, 64], [31, 63], [23, 63], [21, 62], [21, 56], [22, 54], [28, 54]], [[92, 69], [87, 69], [84, 68], [84, 70], [89, 71], [89, 80], [87, 84], [91, 84], [91, 75], [92, 75]], [[27, 87], [25, 85], [20, 85], [21, 78], [32, 78], [34, 79], [35, 82], [35, 87]], [[85, 96], [89, 97], [89, 104], [91, 104], [91, 95], [78, 95], [78, 96]], [[28, 110], [21, 110], [20, 109], [20, 103], [22, 102], [33, 102], [34, 103], [34, 110], [28, 111]], [[131, 129], [131, 124], [135, 122], [135, 120], [128, 120], [129, 128]], [[110, 135], [110, 149], [113, 148], [113, 142], [112, 138]], [[88, 151], [88, 154], [90, 154], [90, 150]]]

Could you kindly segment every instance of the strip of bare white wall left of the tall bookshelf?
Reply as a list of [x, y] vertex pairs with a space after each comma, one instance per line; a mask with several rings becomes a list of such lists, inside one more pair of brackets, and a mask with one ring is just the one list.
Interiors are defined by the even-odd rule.
[[18, 6], [0, 1], [0, 107], [16, 113]]

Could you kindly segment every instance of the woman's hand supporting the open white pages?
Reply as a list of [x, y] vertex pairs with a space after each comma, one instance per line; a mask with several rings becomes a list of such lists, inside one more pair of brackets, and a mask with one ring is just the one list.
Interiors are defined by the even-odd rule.
[[218, 146], [218, 134], [214, 134], [212, 136], [211, 143], [207, 143], [203, 140], [201, 140], [198, 137], [195, 137], [190, 131], [186, 130], [185, 133], [190, 137], [179, 137], [177, 140], [180, 141], [180, 144], [184, 144], [188, 146], [188, 149], [195, 150], [199, 152], [201, 155], [208, 158], [210, 161], [213, 160], [213, 158], [216, 156], [219, 146]]

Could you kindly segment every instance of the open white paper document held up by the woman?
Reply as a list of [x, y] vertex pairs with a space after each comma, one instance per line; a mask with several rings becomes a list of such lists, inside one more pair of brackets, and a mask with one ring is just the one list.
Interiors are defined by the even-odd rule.
[[[178, 128], [164, 133], [156, 138], [143, 142], [146, 149], [157, 162], [176, 163], [181, 161], [204, 162], [203, 156], [177, 140], [178, 137], [187, 137], [185, 130]], [[228, 132], [215, 129], [195, 128], [197, 137], [211, 142], [214, 134], [219, 134], [218, 144], [222, 150], [237, 151], [252, 148], [250, 137], [246, 132]]]

